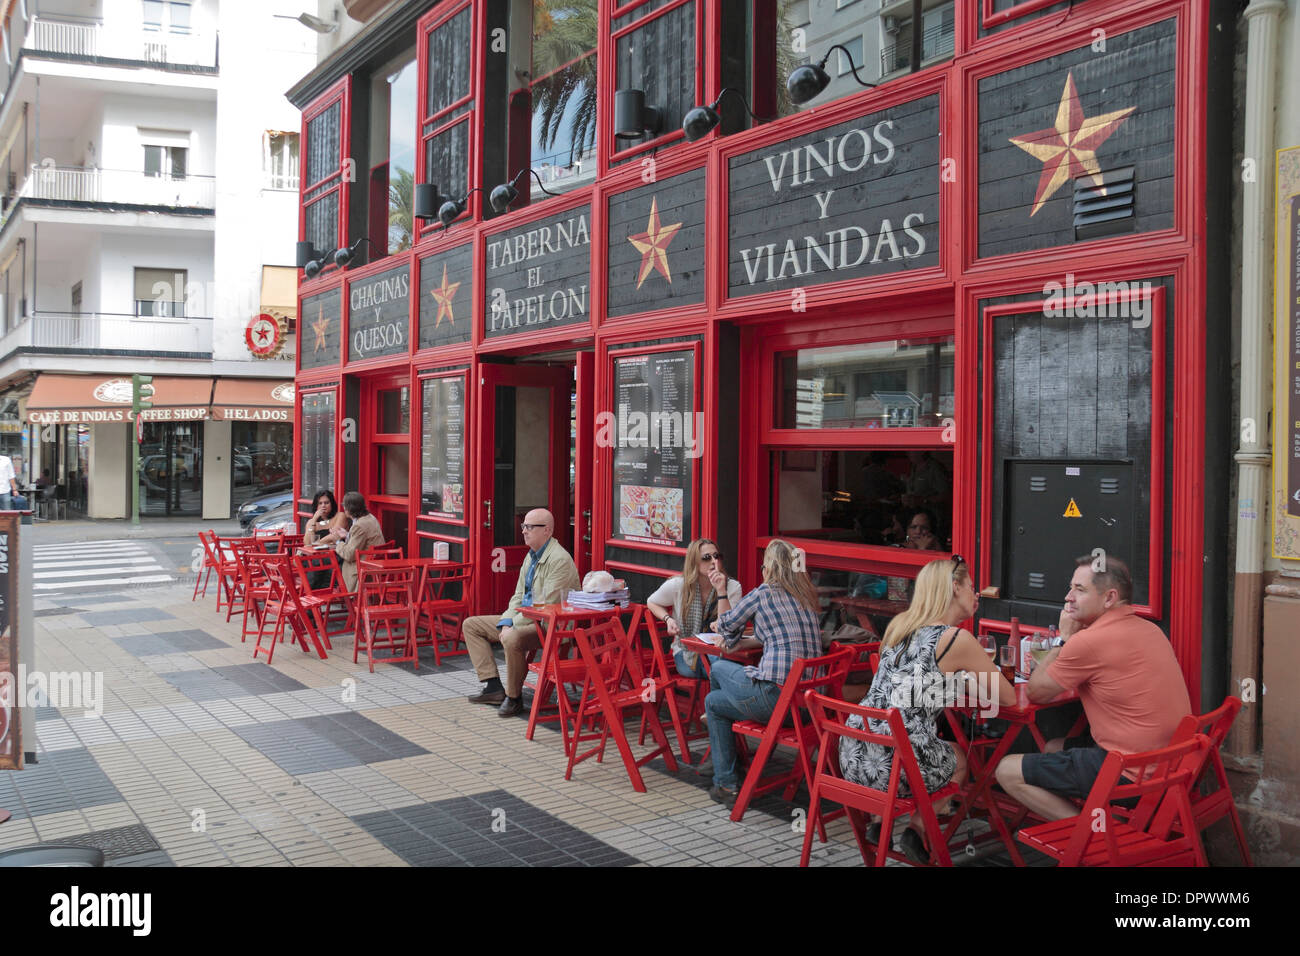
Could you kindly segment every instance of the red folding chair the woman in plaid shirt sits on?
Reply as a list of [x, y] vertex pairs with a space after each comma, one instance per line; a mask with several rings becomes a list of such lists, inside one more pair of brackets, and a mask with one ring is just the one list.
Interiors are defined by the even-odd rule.
[[[758, 740], [758, 752], [749, 761], [749, 771], [745, 782], [736, 796], [736, 805], [732, 808], [732, 819], [737, 823], [745, 818], [745, 810], [750, 801], [777, 787], [785, 787], [784, 799], [793, 800], [801, 780], [812, 780], [812, 753], [818, 747], [818, 734], [815, 724], [803, 713], [805, 695], [809, 691], [826, 689], [838, 696], [844, 687], [844, 679], [849, 675], [849, 658], [852, 652], [837, 650], [823, 657], [800, 658], [790, 667], [790, 672], [781, 684], [781, 696], [776, 700], [776, 709], [766, 724], [758, 721], [736, 721], [732, 730], [736, 732], [736, 749], [740, 758], [749, 757], [749, 744], [746, 739]], [[789, 727], [786, 727], [789, 722]], [[772, 756], [776, 747], [792, 747], [797, 752], [794, 766], [781, 774], [772, 774], [763, 778], [763, 767], [767, 758]], [[820, 826], [820, 825], [819, 825]], [[820, 830], [822, 842], [826, 842], [826, 830]]]

